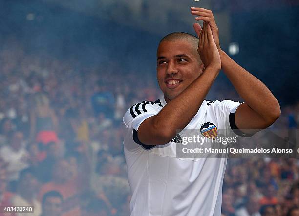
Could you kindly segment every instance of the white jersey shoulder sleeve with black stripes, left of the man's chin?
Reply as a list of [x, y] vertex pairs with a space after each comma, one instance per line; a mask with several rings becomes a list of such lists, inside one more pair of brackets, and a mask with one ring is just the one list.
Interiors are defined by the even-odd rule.
[[126, 127], [133, 128], [137, 131], [145, 119], [156, 115], [158, 112], [159, 110], [155, 105], [149, 101], [144, 101], [131, 106], [125, 113], [123, 121]]

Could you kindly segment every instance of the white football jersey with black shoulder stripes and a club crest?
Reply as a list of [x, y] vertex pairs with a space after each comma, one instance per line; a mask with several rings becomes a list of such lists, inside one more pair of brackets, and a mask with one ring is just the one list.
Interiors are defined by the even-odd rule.
[[[212, 123], [218, 130], [236, 136], [235, 110], [241, 103], [204, 100], [184, 129], [199, 129]], [[220, 216], [222, 182], [227, 158], [179, 159], [176, 143], [143, 145], [137, 131], [147, 118], [166, 106], [165, 99], [135, 104], [125, 114], [124, 139], [131, 216]], [[231, 122], [230, 122], [231, 118]], [[233, 128], [235, 129], [235, 128]]]

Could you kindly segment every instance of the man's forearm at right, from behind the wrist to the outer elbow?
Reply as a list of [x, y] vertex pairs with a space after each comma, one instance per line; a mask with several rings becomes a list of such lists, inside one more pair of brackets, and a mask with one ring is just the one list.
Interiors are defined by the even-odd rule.
[[270, 90], [259, 79], [238, 65], [225, 52], [219, 51], [219, 53], [222, 70], [247, 105], [266, 121], [271, 122], [271, 120], [279, 116], [279, 103]]

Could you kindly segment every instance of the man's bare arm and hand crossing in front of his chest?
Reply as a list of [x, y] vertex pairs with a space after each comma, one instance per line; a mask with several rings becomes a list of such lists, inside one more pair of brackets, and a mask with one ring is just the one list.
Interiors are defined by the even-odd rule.
[[[155, 116], [144, 120], [138, 128], [138, 138], [146, 145], [163, 145], [171, 141], [177, 129], [183, 129], [200, 108], [221, 68], [220, 55], [214, 43], [211, 27], [204, 24], [198, 52], [206, 66], [204, 72], [183, 92], [172, 99]], [[169, 64], [168, 67], [171, 67]]]

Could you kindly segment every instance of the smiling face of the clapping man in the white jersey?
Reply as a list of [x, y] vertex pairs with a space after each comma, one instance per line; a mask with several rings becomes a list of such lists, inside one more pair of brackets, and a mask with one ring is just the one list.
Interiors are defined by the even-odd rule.
[[201, 61], [187, 40], [163, 41], [157, 51], [157, 79], [169, 102], [186, 89], [202, 73]]

